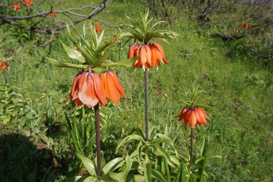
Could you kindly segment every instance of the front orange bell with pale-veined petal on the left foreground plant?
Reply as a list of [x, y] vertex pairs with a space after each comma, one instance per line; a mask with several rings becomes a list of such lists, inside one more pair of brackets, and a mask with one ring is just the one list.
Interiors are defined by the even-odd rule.
[[78, 97], [89, 108], [94, 107], [98, 102], [105, 106], [105, 90], [97, 72], [84, 71], [81, 74]]

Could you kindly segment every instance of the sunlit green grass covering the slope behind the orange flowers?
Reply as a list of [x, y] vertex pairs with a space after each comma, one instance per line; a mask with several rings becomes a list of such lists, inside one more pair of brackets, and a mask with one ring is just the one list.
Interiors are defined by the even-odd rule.
[[[82, 4], [84, 1], [79, 1], [77, 6]], [[66, 2], [65, 6], [68, 7], [69, 2]], [[112, 12], [99, 14], [98, 17], [115, 25], [119, 23], [119, 17], [125, 20], [124, 11], [126, 15], [136, 16], [137, 10], [136, 5], [130, 2], [112, 2], [108, 5], [108, 9]], [[89, 24], [89, 22], [85, 23]], [[7, 25], [1, 27], [1, 37], [8, 27]], [[81, 27], [82, 24], [77, 26], [79, 29]], [[118, 33], [116, 29], [104, 25], [102, 27], [107, 37], [104, 41], [108, 41], [110, 37]], [[206, 90], [205, 96], [215, 95], [208, 103], [216, 106], [211, 108], [214, 113], [208, 114], [212, 119], [208, 125], [194, 128], [196, 135], [194, 152], [199, 153], [202, 139], [207, 136], [208, 155], [223, 156], [222, 159], [207, 161], [207, 167], [218, 177], [210, 176], [209, 181], [271, 181], [273, 178], [271, 70], [257, 68], [241, 57], [234, 60], [229, 56], [230, 54], [227, 54], [226, 42], [221, 39], [211, 39], [207, 34], [210, 30], [198, 29], [204, 34], [197, 34], [196, 23], [188, 20], [187, 17], [178, 19], [172, 24], [172, 29], [181, 34], [179, 41], [171, 40], [171, 46], [169, 46], [159, 40], [170, 65], [165, 64], [160, 66], [159, 70], [149, 71], [150, 125], [160, 121], [165, 123], [167, 113], [172, 113], [172, 116], [178, 115], [184, 107], [184, 103], [180, 101], [180, 98], [185, 99], [183, 86], [190, 89], [193, 84], [198, 85], [199, 89]], [[76, 35], [75, 31], [73, 35]], [[8, 34], [1, 39], [4, 42], [12, 39], [12, 35]], [[64, 112], [67, 111], [70, 118], [73, 115], [74, 103], [65, 102], [65, 100], [70, 93], [72, 80], [77, 70], [53, 67], [43, 57], [72, 62], [62, 49], [59, 40], [66, 45], [71, 44], [64, 31], [45, 48], [31, 49], [31, 45], [35, 43], [34, 40], [22, 45], [11, 42], [1, 47], [2, 54], [15, 54], [8, 72], [8, 83], [10, 86], [19, 87], [14, 91], [22, 94], [22, 103], [33, 109], [33, 112], [27, 113], [20, 110], [18, 117], [11, 117], [5, 124], [3, 124], [4, 121], [0, 122], [1, 165], [8, 154], [32, 133], [33, 130], [28, 128], [27, 121], [35, 122], [39, 118], [39, 113], [44, 113], [38, 132], [13, 157], [2, 181], [41, 181], [43, 178], [48, 181], [61, 181], [75, 174], [84, 175], [84, 169], [77, 159], [59, 158], [54, 155], [65, 150], [75, 150]], [[125, 41], [122, 40], [113, 48], [110, 55], [112, 60], [126, 58], [129, 43], [121, 50], [121, 45]], [[24, 45], [27, 47], [25, 48]], [[185, 54], [191, 54], [191, 56], [187, 58]], [[122, 97], [119, 105], [110, 103], [109, 106], [100, 110], [101, 124], [105, 125], [101, 131], [101, 147], [105, 152], [106, 161], [117, 157], [114, 154], [117, 142], [127, 136], [133, 127], [140, 127], [142, 130], [145, 128], [143, 70], [135, 71], [130, 67], [116, 69], [115, 72], [120, 78], [128, 100]], [[4, 83], [3, 76], [0, 78], [0, 83]], [[48, 114], [50, 108], [52, 115]], [[76, 117], [81, 124], [80, 109]], [[92, 110], [89, 118], [94, 120]], [[23, 120], [27, 120], [25, 125]], [[45, 131], [50, 120], [56, 123], [52, 126], [51, 133], [49, 130]], [[171, 118], [171, 122], [173, 131], [184, 125], [174, 118]], [[161, 126], [163, 127], [164, 124]], [[89, 122], [87, 122], [87, 128], [90, 128]], [[190, 128], [186, 127], [182, 130], [176, 146], [185, 156], [189, 154], [189, 139]], [[128, 148], [123, 146], [123, 150], [120, 150], [118, 155], [126, 151]], [[89, 158], [93, 158], [94, 155], [95, 150], [90, 153]], [[54, 175], [50, 177], [52, 172]]]

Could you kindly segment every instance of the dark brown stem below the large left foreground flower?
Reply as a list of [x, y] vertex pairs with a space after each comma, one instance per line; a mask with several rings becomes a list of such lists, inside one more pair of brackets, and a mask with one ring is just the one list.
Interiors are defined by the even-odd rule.
[[100, 153], [100, 126], [99, 126], [99, 103], [95, 108], [95, 120], [96, 120], [96, 145], [97, 145], [97, 175], [101, 176], [101, 153]]

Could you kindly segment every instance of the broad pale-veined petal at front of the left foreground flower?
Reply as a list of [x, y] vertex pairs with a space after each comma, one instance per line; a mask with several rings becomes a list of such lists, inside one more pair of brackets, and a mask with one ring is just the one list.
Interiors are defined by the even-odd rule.
[[94, 79], [91, 73], [83, 72], [79, 79], [79, 99], [89, 108], [94, 107], [99, 99], [95, 94]]

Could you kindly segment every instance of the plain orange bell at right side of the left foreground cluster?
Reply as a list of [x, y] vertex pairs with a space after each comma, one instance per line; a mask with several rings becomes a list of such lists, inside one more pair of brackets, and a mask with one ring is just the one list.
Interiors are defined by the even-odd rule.
[[99, 77], [104, 86], [106, 98], [112, 100], [116, 104], [120, 102], [121, 94], [125, 99], [127, 99], [125, 92], [113, 70], [106, 71], [106, 73], [101, 73]]

